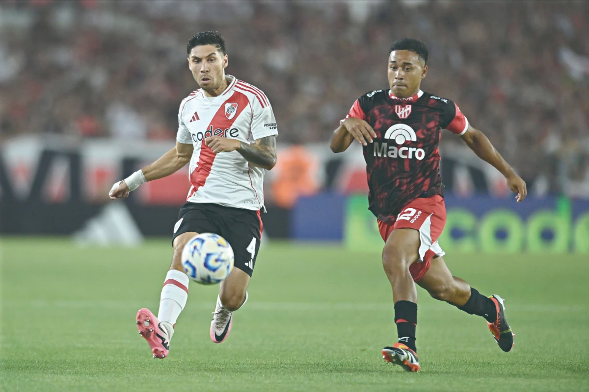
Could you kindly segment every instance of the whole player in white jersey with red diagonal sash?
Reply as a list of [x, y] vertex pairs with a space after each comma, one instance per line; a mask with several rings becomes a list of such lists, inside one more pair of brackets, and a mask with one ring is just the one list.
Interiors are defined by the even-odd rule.
[[172, 264], [161, 290], [157, 317], [137, 313], [139, 333], [154, 358], [170, 350], [174, 324], [186, 306], [188, 276], [181, 264], [184, 244], [197, 233], [217, 233], [233, 248], [234, 268], [221, 283], [210, 336], [221, 343], [233, 312], [247, 300], [247, 287], [262, 236], [264, 169], [276, 165], [276, 119], [260, 89], [225, 75], [228, 59], [219, 32], [188, 40], [188, 68], [200, 89], [180, 104], [176, 146], [149, 166], [115, 183], [110, 198], [127, 197], [146, 181], [166, 177], [190, 162], [190, 191], [174, 227]]

